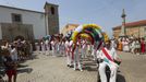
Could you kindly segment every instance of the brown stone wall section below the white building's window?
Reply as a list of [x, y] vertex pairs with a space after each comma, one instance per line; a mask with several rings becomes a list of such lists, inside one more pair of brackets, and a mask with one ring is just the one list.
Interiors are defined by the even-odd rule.
[[23, 36], [27, 40], [34, 39], [32, 24], [1, 23], [2, 39], [14, 40], [16, 36]]

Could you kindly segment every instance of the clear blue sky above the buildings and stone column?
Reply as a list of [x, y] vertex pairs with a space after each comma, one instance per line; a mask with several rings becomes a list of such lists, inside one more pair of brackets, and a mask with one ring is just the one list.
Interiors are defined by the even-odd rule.
[[0, 0], [0, 4], [44, 12], [46, 1], [59, 4], [60, 28], [95, 23], [111, 36], [112, 27], [121, 25], [122, 9], [126, 22], [146, 20], [146, 0]]

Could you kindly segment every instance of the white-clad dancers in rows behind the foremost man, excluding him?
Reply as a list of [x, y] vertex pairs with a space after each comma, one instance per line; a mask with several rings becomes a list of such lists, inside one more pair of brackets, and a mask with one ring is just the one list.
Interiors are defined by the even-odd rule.
[[66, 57], [66, 66], [74, 70], [83, 71], [82, 58], [87, 58], [87, 54], [90, 52], [89, 43], [85, 39], [78, 40], [74, 44], [73, 40], [69, 38], [52, 38], [50, 42], [48, 39], [40, 40], [36, 43], [36, 50], [42, 55], [51, 55], [53, 57], [64, 56]]

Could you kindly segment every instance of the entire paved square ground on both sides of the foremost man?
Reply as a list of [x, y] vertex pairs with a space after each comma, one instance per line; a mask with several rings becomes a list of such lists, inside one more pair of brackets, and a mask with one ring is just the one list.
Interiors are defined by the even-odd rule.
[[[118, 82], [145, 82], [146, 56], [118, 54], [122, 58]], [[28, 60], [22, 63], [23, 68], [19, 68], [17, 82], [97, 82], [97, 69], [93, 61], [84, 60], [87, 67], [81, 72], [68, 68], [64, 57], [36, 56], [36, 59]]]

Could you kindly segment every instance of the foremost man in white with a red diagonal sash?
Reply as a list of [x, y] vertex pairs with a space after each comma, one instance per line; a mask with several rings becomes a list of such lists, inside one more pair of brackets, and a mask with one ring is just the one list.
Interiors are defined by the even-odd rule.
[[99, 60], [99, 75], [101, 82], [107, 82], [107, 75], [106, 75], [106, 67], [108, 66], [110, 68], [110, 80], [109, 82], [115, 82], [117, 80], [117, 70], [119, 68], [119, 65], [114, 62], [121, 61], [115, 52], [115, 49], [113, 47], [110, 47], [110, 40], [106, 44], [106, 47], [104, 47], [98, 52], [98, 60]]

